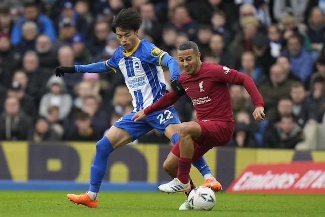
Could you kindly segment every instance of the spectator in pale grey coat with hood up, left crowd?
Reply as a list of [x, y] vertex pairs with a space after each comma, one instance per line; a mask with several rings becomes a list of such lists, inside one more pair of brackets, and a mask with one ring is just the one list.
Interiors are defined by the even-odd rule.
[[46, 93], [39, 105], [39, 114], [48, 119], [48, 108], [50, 106], [59, 107], [59, 120], [64, 120], [70, 113], [72, 107], [72, 98], [64, 93], [65, 84], [62, 78], [53, 75], [47, 82], [49, 92]]

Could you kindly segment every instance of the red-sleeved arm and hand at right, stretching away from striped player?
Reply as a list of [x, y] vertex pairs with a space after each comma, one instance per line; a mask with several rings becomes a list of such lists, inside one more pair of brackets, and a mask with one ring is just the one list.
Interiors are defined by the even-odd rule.
[[233, 70], [232, 73], [232, 81], [230, 83], [244, 86], [247, 92], [249, 93], [250, 97], [252, 98], [255, 107], [255, 110], [253, 112], [253, 117], [255, 121], [264, 120], [265, 114], [263, 98], [261, 96], [261, 93], [259, 93], [253, 79], [248, 75], [236, 70]]

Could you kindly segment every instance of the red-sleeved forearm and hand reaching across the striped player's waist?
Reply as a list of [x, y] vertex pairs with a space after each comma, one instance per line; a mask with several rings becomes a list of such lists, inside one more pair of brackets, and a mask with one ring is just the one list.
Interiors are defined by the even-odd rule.
[[131, 118], [131, 120], [139, 121], [143, 118], [145, 118], [148, 114], [162, 110], [163, 108], [167, 108], [175, 102], [178, 101], [178, 99], [182, 97], [181, 95], [177, 95], [173, 90], [169, 93], [166, 93], [163, 95], [158, 101], [153, 103], [152, 105], [146, 107], [144, 110], [140, 110], [134, 114], [134, 116]]

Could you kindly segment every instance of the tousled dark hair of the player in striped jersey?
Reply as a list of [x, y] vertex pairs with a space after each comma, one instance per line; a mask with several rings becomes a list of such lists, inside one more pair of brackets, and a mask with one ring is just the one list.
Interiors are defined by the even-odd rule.
[[142, 24], [142, 17], [140, 14], [132, 9], [122, 9], [116, 16], [113, 18], [112, 30], [116, 33], [116, 28], [125, 31], [125, 30], [134, 30], [137, 31]]

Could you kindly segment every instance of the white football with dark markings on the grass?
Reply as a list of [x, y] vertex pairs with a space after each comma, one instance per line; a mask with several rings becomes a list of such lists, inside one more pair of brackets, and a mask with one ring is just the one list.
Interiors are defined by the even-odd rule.
[[210, 188], [199, 186], [189, 193], [188, 202], [193, 210], [210, 211], [215, 206], [216, 196]]

